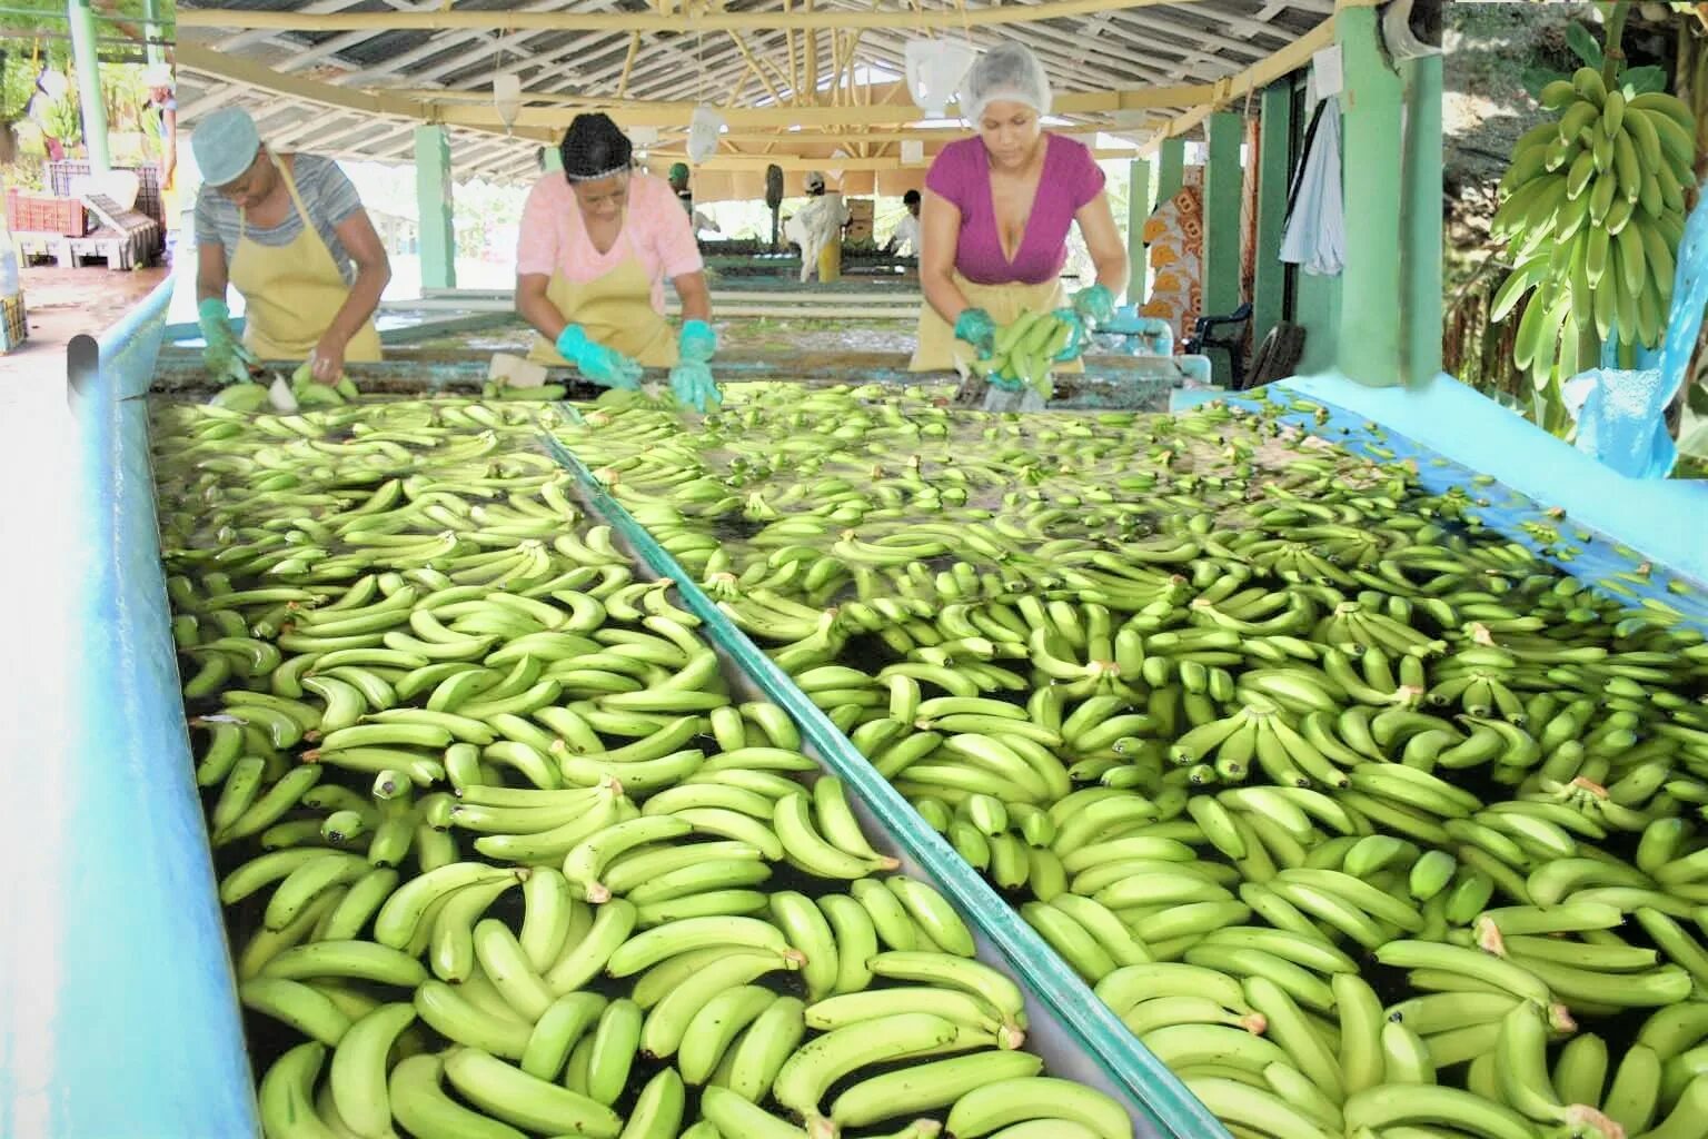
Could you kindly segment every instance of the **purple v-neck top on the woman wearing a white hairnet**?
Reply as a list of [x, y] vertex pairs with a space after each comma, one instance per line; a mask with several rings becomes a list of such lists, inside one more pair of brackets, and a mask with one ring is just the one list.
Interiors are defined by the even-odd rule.
[[955, 268], [962, 277], [979, 285], [1042, 285], [1062, 272], [1068, 227], [1079, 207], [1102, 193], [1103, 171], [1083, 142], [1045, 131], [1044, 174], [1013, 261], [1003, 253], [996, 227], [991, 164], [982, 138], [974, 135], [943, 147], [926, 174], [926, 188], [960, 210]]

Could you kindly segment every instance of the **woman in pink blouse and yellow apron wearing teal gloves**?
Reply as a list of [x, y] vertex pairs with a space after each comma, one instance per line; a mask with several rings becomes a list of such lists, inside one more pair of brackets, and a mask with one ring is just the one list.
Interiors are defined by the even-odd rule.
[[[535, 183], [523, 207], [516, 311], [541, 336], [531, 359], [627, 389], [642, 365], [670, 367], [676, 398], [704, 412], [722, 396], [700, 248], [670, 183], [632, 171], [630, 152], [606, 114], [569, 125], [564, 171]], [[664, 321], [666, 277], [681, 299], [678, 336]]]

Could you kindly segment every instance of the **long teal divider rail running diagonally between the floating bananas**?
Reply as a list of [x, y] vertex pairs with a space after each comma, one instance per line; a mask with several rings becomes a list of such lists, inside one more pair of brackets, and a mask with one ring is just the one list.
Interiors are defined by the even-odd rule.
[[[574, 417], [574, 408], [565, 408]], [[789, 675], [777, 668], [757, 644], [724, 616], [693, 577], [664, 550], [635, 517], [617, 502], [591, 470], [562, 442], [543, 432], [543, 446], [581, 483], [594, 511], [642, 557], [659, 577], [681, 593], [688, 611], [705, 623], [712, 642], [746, 676], [801, 726], [801, 733], [823, 756], [834, 775], [873, 813], [895, 844], [915, 862], [931, 867], [950, 900], [1008, 958], [1021, 980], [1050, 1008], [1115, 1088], [1144, 1113], [1148, 1122], [1173, 1139], [1228, 1139], [1221, 1122], [1120, 1023], [1107, 1004], [1074, 973], [1054, 949], [974, 871], [955, 849], [924, 825], [895, 787], [871, 768], [835, 724], [806, 698]]]

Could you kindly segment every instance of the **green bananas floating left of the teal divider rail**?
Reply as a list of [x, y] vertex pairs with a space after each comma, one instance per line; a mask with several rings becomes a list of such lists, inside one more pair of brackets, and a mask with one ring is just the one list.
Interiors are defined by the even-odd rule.
[[555, 470], [488, 459], [526, 420], [169, 415], [173, 634], [210, 837], [239, 852], [239, 996], [301, 1042], [263, 1066], [268, 1136], [1131, 1136], [1023, 1050], [1021, 990], [794, 721], [729, 695], [699, 618]]

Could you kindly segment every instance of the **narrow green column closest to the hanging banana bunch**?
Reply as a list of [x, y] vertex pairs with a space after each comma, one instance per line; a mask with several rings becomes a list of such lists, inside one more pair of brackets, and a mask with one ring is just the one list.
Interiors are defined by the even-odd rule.
[[1406, 383], [1442, 371], [1442, 56], [1401, 63], [1406, 80]]

